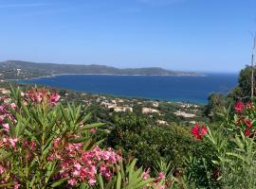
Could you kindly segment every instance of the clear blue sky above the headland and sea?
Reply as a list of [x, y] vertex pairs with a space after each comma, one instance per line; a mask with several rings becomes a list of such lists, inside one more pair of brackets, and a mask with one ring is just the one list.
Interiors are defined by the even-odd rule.
[[256, 0], [0, 0], [0, 60], [237, 72]]

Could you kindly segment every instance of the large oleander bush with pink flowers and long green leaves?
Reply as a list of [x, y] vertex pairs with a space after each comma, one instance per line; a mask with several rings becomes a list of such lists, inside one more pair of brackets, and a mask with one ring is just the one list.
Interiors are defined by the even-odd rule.
[[100, 148], [81, 106], [58, 103], [48, 89], [0, 98], [0, 188], [164, 188], [165, 176]]

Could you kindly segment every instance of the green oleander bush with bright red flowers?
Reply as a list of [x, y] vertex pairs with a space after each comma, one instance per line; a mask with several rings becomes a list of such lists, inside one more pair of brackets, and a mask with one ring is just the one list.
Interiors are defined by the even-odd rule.
[[187, 160], [186, 180], [203, 188], [255, 188], [256, 143], [254, 103], [238, 100], [219, 113], [217, 129], [195, 125], [198, 154]]

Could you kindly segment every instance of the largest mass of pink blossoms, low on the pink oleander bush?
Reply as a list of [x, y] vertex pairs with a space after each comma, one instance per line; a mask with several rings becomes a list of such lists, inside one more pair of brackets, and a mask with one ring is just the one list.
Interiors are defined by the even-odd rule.
[[60, 150], [62, 140], [54, 140], [52, 153], [48, 156], [48, 161], [57, 160], [61, 164], [61, 170], [56, 178], [67, 178], [67, 183], [71, 186], [86, 181], [89, 185], [94, 185], [97, 181], [97, 174], [109, 181], [114, 174], [114, 164], [121, 160], [112, 148], [106, 150], [99, 146], [92, 150], [83, 150], [82, 144], [67, 144]]

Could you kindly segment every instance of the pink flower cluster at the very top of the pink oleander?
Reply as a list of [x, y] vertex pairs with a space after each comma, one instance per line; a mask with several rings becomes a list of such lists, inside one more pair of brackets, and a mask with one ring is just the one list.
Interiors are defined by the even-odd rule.
[[56, 92], [50, 93], [48, 89], [39, 89], [39, 88], [32, 88], [27, 92], [28, 99], [35, 103], [40, 104], [44, 101], [51, 104], [52, 106], [55, 106], [56, 103], [60, 99], [60, 95]]

